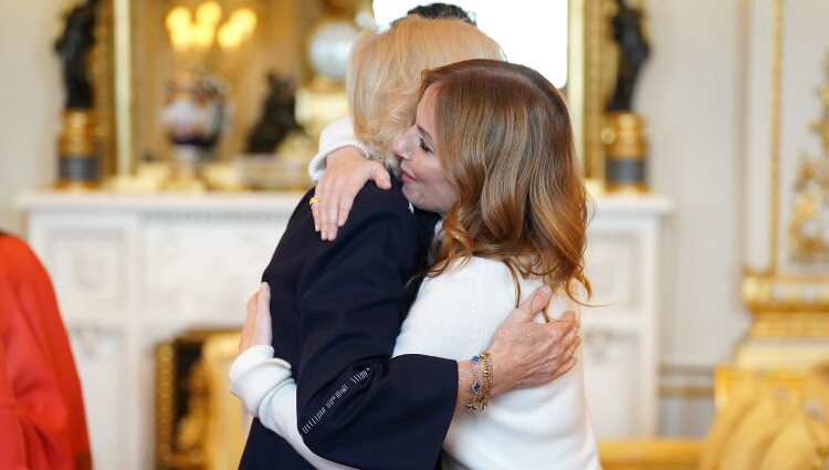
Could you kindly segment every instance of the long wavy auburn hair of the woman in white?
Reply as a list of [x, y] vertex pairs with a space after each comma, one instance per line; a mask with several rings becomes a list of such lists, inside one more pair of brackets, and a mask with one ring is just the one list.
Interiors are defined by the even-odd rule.
[[538, 72], [470, 60], [423, 72], [436, 90], [436, 153], [460, 197], [443, 219], [427, 275], [471, 257], [591, 294], [584, 272], [588, 196], [562, 94]]

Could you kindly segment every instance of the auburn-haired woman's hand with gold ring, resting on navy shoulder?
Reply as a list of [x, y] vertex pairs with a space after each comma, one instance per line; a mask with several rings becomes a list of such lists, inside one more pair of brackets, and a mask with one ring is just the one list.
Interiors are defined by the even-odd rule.
[[326, 168], [317, 182], [311, 205], [314, 229], [323, 240], [334, 240], [345, 224], [357, 192], [374, 180], [377, 187], [391, 189], [391, 176], [382, 164], [366, 158], [355, 147], [343, 147], [326, 158]]

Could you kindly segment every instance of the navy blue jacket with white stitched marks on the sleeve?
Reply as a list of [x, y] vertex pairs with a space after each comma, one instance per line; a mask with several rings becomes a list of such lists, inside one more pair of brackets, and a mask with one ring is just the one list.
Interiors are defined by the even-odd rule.
[[[335, 241], [314, 231], [308, 191], [263, 281], [273, 345], [297, 384], [297, 426], [318, 456], [360, 469], [433, 469], [458, 394], [454, 361], [391, 358], [426, 264], [436, 215], [409, 209], [400, 185], [369, 182]], [[408, 288], [408, 289], [407, 289]], [[241, 469], [312, 469], [254, 420]]]

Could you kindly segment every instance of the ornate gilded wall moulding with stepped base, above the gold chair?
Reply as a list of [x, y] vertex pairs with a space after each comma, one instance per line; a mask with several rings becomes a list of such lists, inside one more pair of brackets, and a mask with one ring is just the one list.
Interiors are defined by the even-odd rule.
[[[822, 155], [801, 156], [793, 197], [784, 198], [784, 0], [769, 0], [769, 263], [760, 270], [744, 270], [741, 297], [754, 314], [754, 324], [737, 346], [735, 362], [753, 369], [797, 370], [829, 358], [829, 58], [821, 87], [823, 115], [811, 125], [821, 139]], [[784, 203], [791, 203], [788, 215], [781, 211]], [[781, 230], [784, 217], [788, 217], [786, 231]], [[787, 236], [785, 242], [781, 233]]]

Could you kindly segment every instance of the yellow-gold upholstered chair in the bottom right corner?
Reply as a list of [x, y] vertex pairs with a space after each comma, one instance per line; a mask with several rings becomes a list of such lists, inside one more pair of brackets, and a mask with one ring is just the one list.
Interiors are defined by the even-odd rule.
[[758, 373], [721, 366], [703, 440], [599, 443], [605, 470], [810, 470], [829, 458], [829, 366]]

